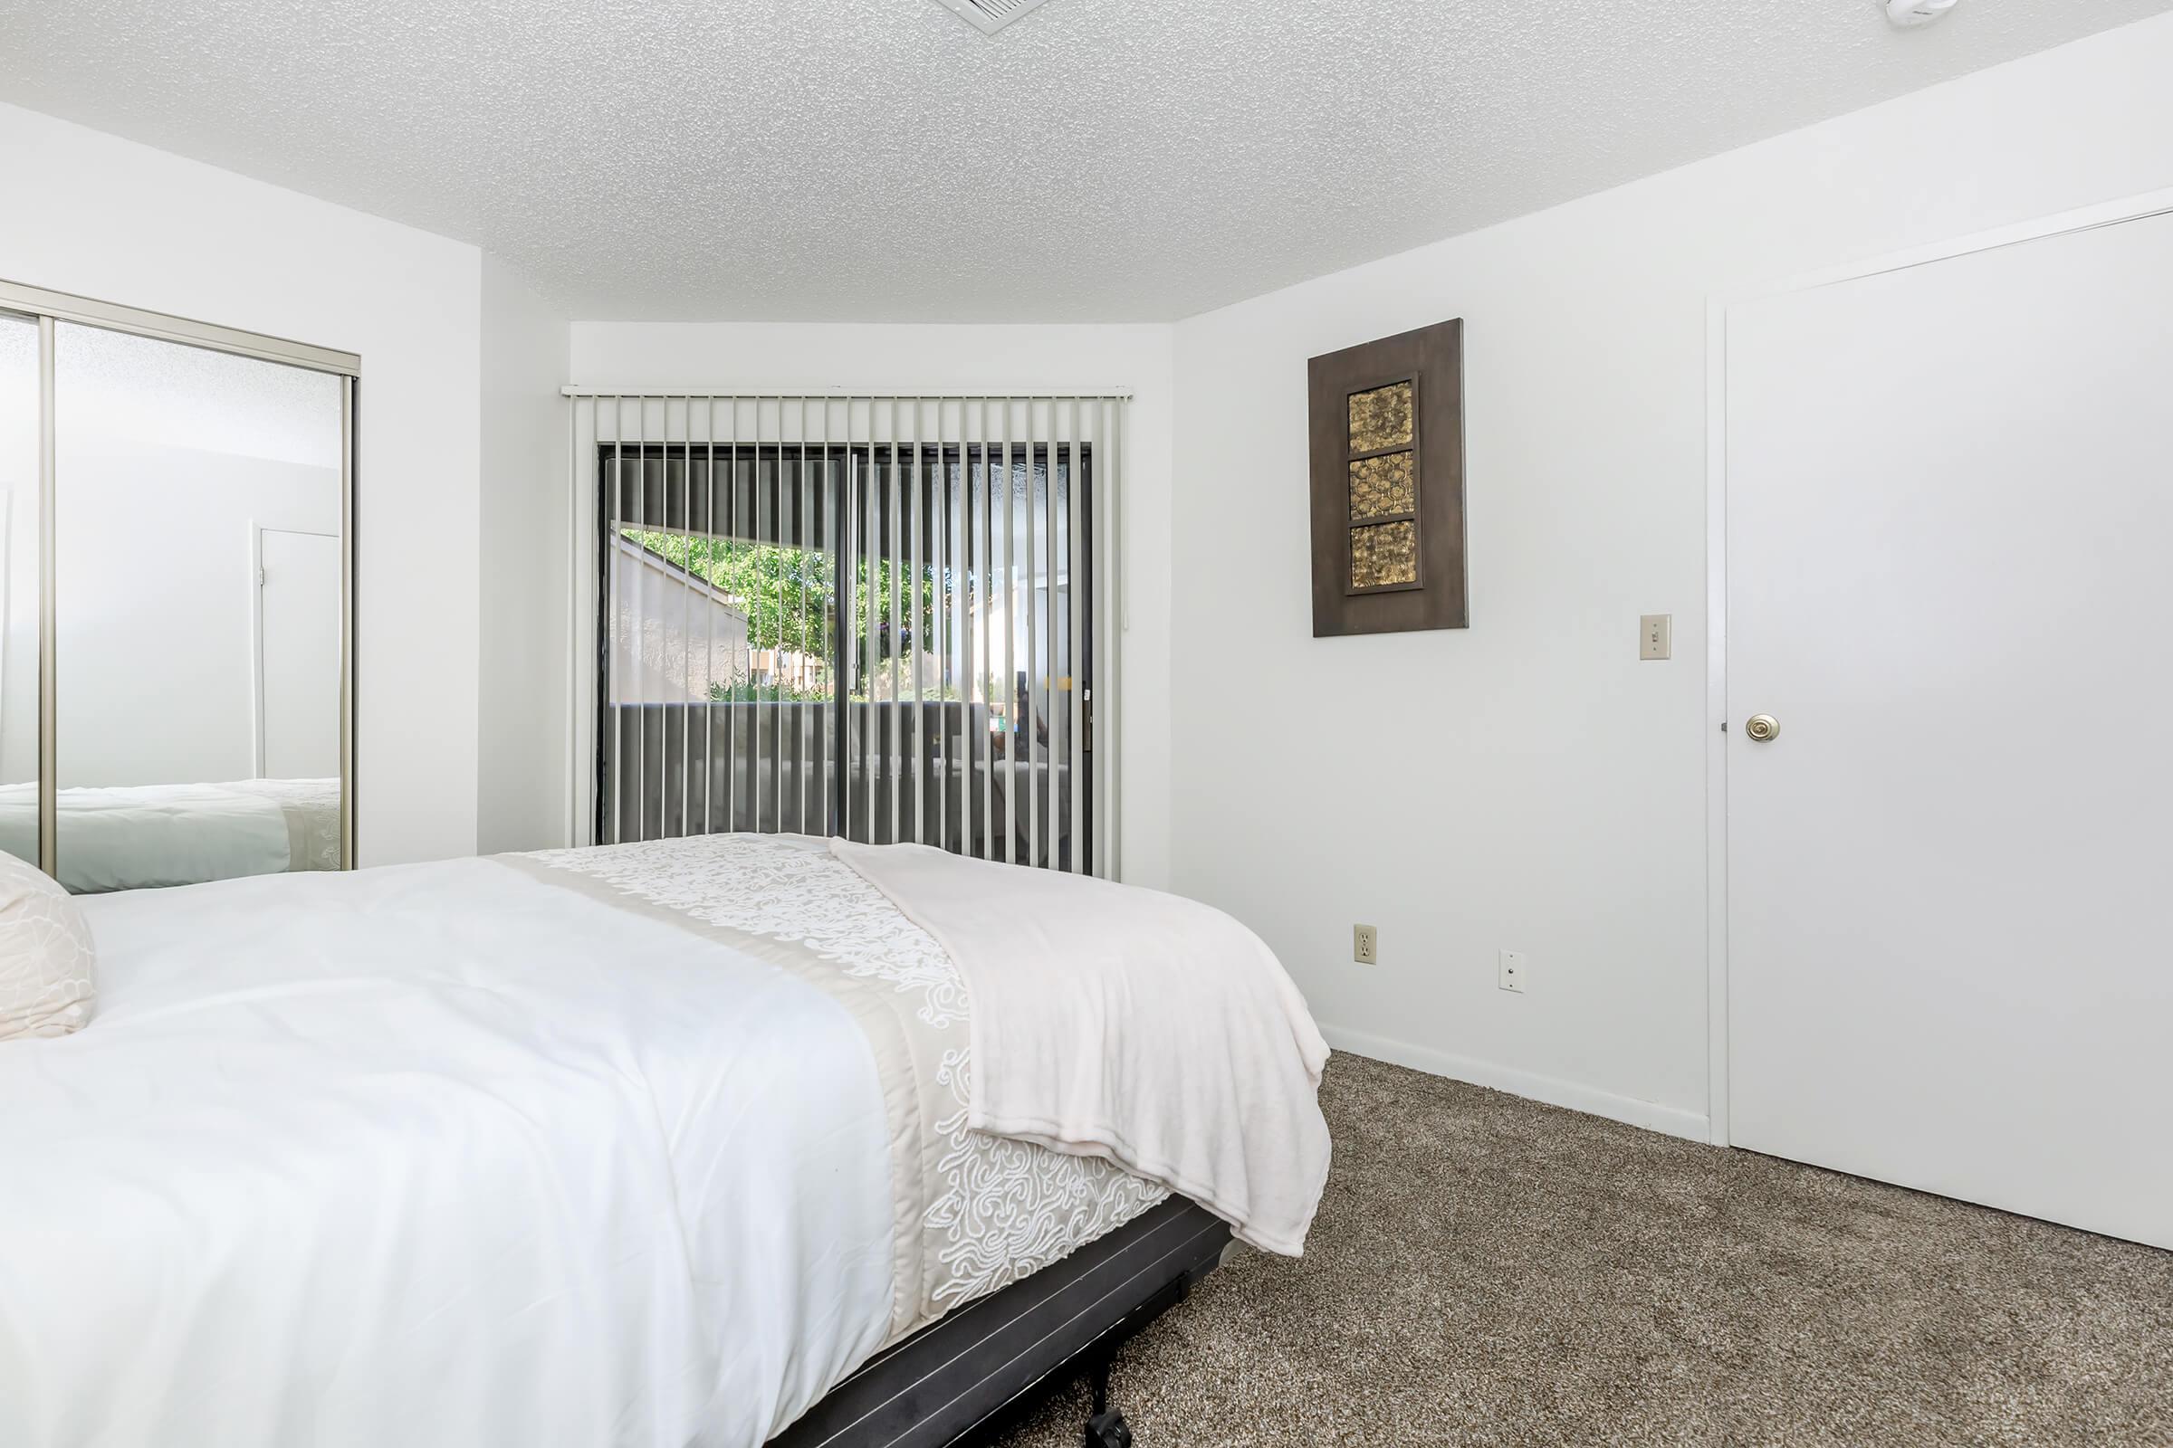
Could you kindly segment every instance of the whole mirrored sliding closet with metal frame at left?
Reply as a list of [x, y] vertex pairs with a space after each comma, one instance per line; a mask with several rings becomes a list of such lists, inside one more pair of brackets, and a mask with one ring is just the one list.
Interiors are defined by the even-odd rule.
[[0, 851], [352, 860], [352, 354], [0, 282]]

